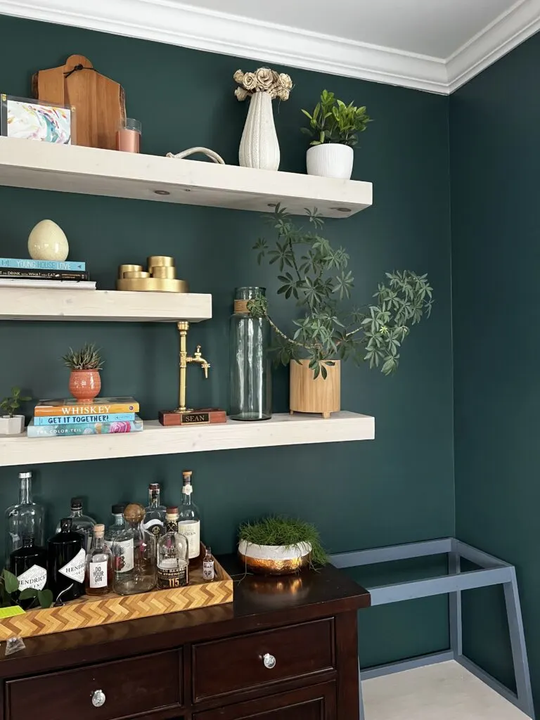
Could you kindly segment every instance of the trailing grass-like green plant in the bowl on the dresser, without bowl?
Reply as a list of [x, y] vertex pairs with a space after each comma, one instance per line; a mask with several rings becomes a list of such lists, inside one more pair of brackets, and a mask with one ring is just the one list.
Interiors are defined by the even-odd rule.
[[238, 529], [238, 539], [248, 545], [283, 545], [287, 548], [306, 542], [311, 545], [313, 565], [324, 565], [328, 562], [318, 529], [312, 523], [298, 518], [270, 516], [253, 523], [243, 523]]

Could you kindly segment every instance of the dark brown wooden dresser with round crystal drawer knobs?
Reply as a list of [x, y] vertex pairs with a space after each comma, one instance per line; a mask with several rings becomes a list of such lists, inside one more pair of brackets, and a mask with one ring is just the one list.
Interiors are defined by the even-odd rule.
[[[4, 657], [1, 720], [358, 720], [356, 611], [332, 566], [238, 575], [233, 603], [29, 638]], [[243, 577], [242, 580], [239, 580]]]

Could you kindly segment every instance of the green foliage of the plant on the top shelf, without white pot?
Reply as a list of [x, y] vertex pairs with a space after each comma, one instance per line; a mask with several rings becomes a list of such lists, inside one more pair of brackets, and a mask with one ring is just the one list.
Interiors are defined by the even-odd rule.
[[310, 121], [310, 125], [301, 127], [300, 130], [314, 138], [310, 145], [339, 143], [354, 148], [358, 143], [357, 133], [364, 132], [368, 123], [372, 122], [365, 106], [356, 107], [354, 102], [346, 105], [328, 90], [323, 90], [313, 114], [307, 110], [302, 112]]

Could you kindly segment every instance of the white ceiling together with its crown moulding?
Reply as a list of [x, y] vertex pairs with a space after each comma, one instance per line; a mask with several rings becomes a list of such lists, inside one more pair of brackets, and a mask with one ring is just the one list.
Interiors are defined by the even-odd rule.
[[540, 30], [540, 0], [0, 0], [1, 14], [442, 94]]

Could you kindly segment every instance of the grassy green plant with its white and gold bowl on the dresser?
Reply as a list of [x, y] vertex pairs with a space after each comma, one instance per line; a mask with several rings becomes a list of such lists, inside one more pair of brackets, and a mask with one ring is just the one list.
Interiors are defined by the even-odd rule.
[[246, 570], [259, 575], [291, 575], [328, 560], [317, 528], [298, 518], [270, 516], [243, 523], [238, 541], [238, 555]]

